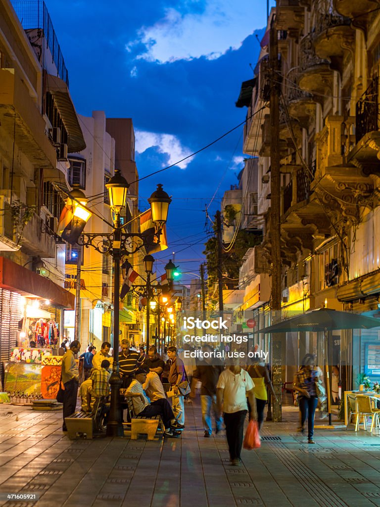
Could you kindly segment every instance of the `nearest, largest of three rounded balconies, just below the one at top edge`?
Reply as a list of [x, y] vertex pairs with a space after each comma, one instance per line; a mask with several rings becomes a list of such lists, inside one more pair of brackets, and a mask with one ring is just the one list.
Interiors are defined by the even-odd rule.
[[334, 12], [321, 12], [317, 15], [315, 26], [316, 54], [330, 60], [330, 67], [341, 73], [343, 59], [354, 47], [355, 30], [351, 28], [351, 19]]

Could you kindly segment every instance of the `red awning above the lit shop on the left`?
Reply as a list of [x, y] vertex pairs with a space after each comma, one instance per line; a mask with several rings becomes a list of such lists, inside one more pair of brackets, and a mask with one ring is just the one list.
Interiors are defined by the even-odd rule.
[[0, 257], [0, 287], [22, 296], [48, 299], [54, 306], [74, 308], [73, 294], [5, 257]]

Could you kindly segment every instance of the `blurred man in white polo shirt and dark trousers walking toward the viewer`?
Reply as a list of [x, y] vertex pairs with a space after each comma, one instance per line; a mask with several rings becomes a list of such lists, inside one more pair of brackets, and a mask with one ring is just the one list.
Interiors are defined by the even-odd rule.
[[244, 421], [248, 411], [247, 396], [251, 406], [249, 420], [256, 419], [254, 384], [248, 373], [240, 366], [227, 367], [216, 386], [218, 410], [223, 406], [225, 433], [229, 445], [231, 464], [240, 466], [243, 445]]

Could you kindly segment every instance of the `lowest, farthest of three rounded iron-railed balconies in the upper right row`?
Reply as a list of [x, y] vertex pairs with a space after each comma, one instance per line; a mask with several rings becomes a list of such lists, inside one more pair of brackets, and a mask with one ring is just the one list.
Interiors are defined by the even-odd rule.
[[285, 79], [285, 100], [289, 116], [299, 121], [302, 127], [307, 127], [310, 118], [315, 117], [316, 101], [311, 93], [301, 90], [297, 85], [299, 69], [291, 69]]

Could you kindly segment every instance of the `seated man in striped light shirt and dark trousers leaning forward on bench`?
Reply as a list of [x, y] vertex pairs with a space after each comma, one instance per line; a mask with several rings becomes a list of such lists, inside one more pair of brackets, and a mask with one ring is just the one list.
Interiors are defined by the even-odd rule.
[[135, 415], [144, 417], [154, 417], [156, 415], [160, 415], [165, 427], [164, 435], [166, 437], [172, 437], [173, 432], [171, 428], [178, 428], [176, 426], [171, 406], [166, 397], [159, 398], [153, 403], [150, 403], [142, 387], [142, 384], [146, 381], [146, 373], [146, 369], [143, 368], [139, 368], [135, 372], [135, 378], [132, 380], [130, 386], [128, 387], [128, 391], [125, 392], [125, 395], [132, 398]]

